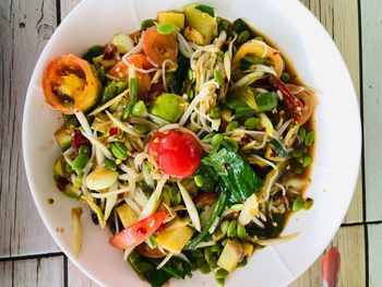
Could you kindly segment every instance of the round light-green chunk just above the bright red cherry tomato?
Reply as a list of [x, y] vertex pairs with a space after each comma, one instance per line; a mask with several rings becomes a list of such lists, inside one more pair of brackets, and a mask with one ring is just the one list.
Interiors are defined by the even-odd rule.
[[177, 94], [162, 94], [151, 106], [151, 113], [169, 122], [176, 122], [183, 115], [187, 100]]

